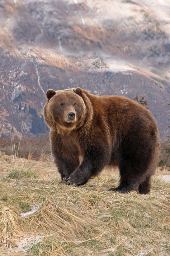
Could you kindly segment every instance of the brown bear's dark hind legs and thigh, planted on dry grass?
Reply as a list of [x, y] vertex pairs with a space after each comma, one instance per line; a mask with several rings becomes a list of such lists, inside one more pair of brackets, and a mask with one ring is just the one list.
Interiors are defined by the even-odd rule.
[[117, 156], [120, 185], [110, 189], [111, 191], [126, 193], [135, 190], [141, 194], [150, 191], [150, 176], [154, 173], [157, 163], [157, 138], [152, 138], [148, 132], [144, 135], [130, 133], [122, 142], [121, 152]]

